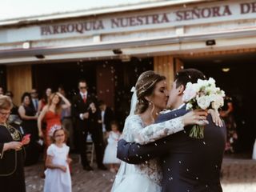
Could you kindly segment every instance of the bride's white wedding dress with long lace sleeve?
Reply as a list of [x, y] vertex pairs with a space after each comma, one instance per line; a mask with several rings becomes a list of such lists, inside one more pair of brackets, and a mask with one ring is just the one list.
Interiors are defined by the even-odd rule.
[[[146, 126], [139, 115], [126, 118], [122, 138], [127, 142], [146, 144], [159, 138], [174, 134], [184, 129], [181, 118], [174, 118], [166, 122]], [[162, 170], [158, 159], [151, 159], [144, 164], [132, 165], [121, 162], [116, 175], [112, 192], [160, 192]]]

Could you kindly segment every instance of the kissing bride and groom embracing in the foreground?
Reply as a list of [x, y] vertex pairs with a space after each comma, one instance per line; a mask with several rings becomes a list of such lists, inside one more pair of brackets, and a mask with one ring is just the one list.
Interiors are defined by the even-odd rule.
[[[122, 163], [112, 192], [222, 191], [226, 128], [215, 110], [186, 110], [182, 100], [186, 83], [198, 79], [206, 76], [181, 70], [168, 93], [164, 76], [140, 75], [118, 142]], [[194, 125], [205, 127], [203, 138], [190, 137]]]

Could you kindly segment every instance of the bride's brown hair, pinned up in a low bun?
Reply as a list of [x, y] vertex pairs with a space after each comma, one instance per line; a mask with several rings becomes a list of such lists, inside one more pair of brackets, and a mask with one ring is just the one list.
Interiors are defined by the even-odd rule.
[[146, 111], [150, 103], [146, 100], [146, 96], [152, 95], [155, 85], [165, 79], [165, 76], [156, 74], [153, 70], [148, 70], [138, 77], [135, 85], [138, 102], [134, 114], [142, 114]]

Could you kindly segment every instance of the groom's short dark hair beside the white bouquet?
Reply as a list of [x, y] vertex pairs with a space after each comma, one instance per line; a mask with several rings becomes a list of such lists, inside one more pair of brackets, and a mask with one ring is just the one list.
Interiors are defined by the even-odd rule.
[[198, 82], [198, 78], [205, 80], [206, 75], [204, 75], [200, 70], [186, 69], [178, 71], [175, 75], [174, 81], [176, 81], [176, 88], [178, 88], [178, 86], [186, 87], [186, 83], [188, 82]]

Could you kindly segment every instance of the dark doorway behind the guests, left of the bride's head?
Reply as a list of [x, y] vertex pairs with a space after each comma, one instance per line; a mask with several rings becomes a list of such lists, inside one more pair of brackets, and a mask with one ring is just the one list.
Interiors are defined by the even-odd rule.
[[102, 61], [78, 61], [45, 63], [32, 67], [33, 86], [43, 94], [46, 88], [53, 91], [62, 85], [67, 98], [73, 98], [78, 91], [79, 79], [85, 79], [90, 94], [113, 108], [116, 118], [123, 122], [130, 112], [130, 92], [143, 71], [154, 70], [153, 58], [131, 58], [128, 62], [120, 59]]

